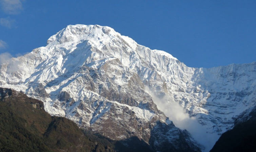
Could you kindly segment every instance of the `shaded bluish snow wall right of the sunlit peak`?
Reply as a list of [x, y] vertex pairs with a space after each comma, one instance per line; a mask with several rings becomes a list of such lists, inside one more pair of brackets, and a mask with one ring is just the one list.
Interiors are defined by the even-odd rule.
[[202, 123], [205, 119], [209, 120], [212, 126], [218, 122], [213, 131], [221, 133], [232, 128], [233, 119], [255, 105], [256, 62], [200, 68], [195, 75], [200, 76], [193, 79], [194, 83], [199, 84], [203, 91], [206, 90], [209, 96], [203, 108], [213, 116], [207, 118], [200, 115], [198, 120]]

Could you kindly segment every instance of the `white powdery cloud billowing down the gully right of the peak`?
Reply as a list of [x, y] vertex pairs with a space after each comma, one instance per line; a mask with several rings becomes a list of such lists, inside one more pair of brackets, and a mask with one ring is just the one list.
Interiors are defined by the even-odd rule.
[[192, 137], [204, 146], [202, 151], [208, 152], [212, 149], [219, 138], [218, 134], [208, 133], [206, 127], [198, 123], [195, 117], [190, 117], [179, 103], [170, 101], [172, 98], [166, 95], [159, 98], [148, 87], [145, 87], [145, 91], [152, 96], [157, 108], [169, 117], [176, 127], [188, 130]]

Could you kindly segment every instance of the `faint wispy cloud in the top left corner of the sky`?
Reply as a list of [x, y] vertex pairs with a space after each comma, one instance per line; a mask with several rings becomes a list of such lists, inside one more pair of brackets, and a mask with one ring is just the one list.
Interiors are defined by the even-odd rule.
[[23, 10], [20, 0], [0, 0], [1, 8], [6, 14], [20, 14]]

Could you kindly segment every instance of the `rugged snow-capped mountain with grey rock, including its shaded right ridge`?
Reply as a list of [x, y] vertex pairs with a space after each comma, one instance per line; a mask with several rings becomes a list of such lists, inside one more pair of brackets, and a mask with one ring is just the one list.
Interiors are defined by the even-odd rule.
[[68, 25], [45, 47], [2, 64], [0, 86], [21, 90], [43, 101], [51, 115], [114, 140], [137, 136], [155, 150], [168, 142], [198, 151], [191, 135], [153, 100], [170, 110], [178, 103], [178, 112], [194, 118], [205, 133], [220, 135], [255, 105], [256, 62], [190, 68], [110, 27]]

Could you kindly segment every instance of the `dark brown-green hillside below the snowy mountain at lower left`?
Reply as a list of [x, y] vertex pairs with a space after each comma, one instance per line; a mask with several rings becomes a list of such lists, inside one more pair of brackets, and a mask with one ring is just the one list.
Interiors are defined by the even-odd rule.
[[106, 139], [43, 108], [39, 100], [0, 88], [0, 151], [115, 151]]

